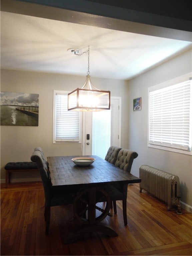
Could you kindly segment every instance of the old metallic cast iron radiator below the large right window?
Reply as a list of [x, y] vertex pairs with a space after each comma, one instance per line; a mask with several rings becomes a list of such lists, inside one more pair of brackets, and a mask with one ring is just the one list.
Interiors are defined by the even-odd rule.
[[167, 203], [168, 211], [171, 206], [176, 206], [178, 209], [177, 213], [181, 214], [178, 176], [149, 165], [141, 165], [139, 168], [139, 177], [141, 178], [141, 183], [139, 183], [140, 192], [144, 189]]

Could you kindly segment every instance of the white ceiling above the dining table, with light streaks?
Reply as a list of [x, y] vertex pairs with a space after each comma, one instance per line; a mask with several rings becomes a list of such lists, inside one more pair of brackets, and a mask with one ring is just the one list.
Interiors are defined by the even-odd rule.
[[1, 11], [1, 68], [131, 79], [192, 47], [190, 41]]

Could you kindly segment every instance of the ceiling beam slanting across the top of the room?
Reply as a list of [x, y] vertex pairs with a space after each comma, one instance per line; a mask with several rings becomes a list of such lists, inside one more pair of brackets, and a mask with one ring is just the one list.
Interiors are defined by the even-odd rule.
[[[121, 7], [103, 5], [95, 2], [89, 2], [86, 0], [1, 0], [1, 11], [42, 17], [52, 20], [60, 20], [71, 23], [78, 23], [82, 25], [102, 27], [113, 30], [120, 30], [137, 34], [158, 36], [183, 41], [192, 41], [192, 33], [190, 31], [143, 23], [144, 18], [150, 21], [148, 23], [152, 23], [152, 16], [148, 16], [147, 13], [135, 10], [128, 10]], [[121, 19], [119, 18], [119, 15], [121, 16]], [[153, 16], [154, 20], [158, 20], [157, 16], [159, 15]], [[128, 18], [125, 19], [126, 17], [128, 17], [129, 20]], [[163, 16], [164, 23], [169, 23], [169, 17], [167, 17], [166, 20], [165, 18], [166, 17]], [[170, 19], [172, 19], [172, 21], [176, 21], [175, 18]], [[177, 19], [177, 22], [178, 20], [180, 19]], [[184, 24], [188, 24], [187, 26], [189, 26], [189, 24], [191, 24], [191, 21], [183, 21], [183, 25]]]

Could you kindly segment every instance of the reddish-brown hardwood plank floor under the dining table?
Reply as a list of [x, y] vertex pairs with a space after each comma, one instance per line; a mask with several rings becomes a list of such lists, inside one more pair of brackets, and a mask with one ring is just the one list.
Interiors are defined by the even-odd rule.
[[175, 209], [147, 192], [139, 184], [128, 186], [127, 219], [124, 226], [122, 202], [117, 214], [105, 223], [118, 237], [86, 234], [78, 242], [64, 244], [75, 228], [71, 206], [51, 208], [49, 235], [45, 236], [44, 192], [41, 183], [1, 184], [1, 255], [192, 255], [192, 214]]

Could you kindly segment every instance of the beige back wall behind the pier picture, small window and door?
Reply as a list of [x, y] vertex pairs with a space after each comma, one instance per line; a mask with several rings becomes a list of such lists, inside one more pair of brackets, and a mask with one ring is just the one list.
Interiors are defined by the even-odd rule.
[[[4, 166], [7, 162], [30, 161], [35, 147], [41, 147], [45, 156], [82, 155], [81, 144], [53, 144], [53, 90], [72, 91], [82, 87], [85, 76], [47, 74], [15, 70], [1, 70], [1, 91], [39, 94], [39, 126], [1, 126], [1, 182], [5, 182]], [[122, 95], [123, 111], [127, 112], [128, 87], [125, 81], [91, 77], [95, 87], [110, 90], [111, 96]], [[122, 145], [128, 146], [128, 116], [122, 122]], [[13, 173], [12, 181], [40, 180], [37, 172]]]

